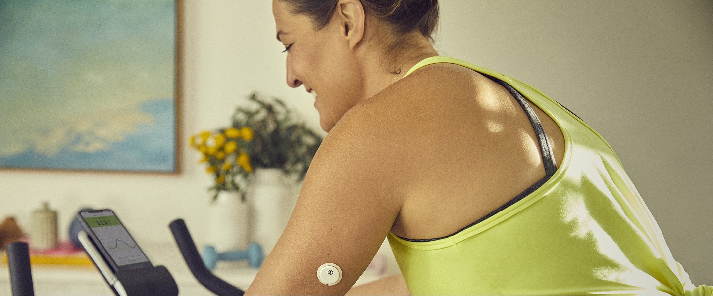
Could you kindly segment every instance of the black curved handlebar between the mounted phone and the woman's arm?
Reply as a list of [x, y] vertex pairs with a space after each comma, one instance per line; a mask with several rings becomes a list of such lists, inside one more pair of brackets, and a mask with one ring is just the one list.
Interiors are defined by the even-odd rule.
[[211, 290], [217, 295], [243, 295], [244, 291], [238, 289], [234, 285], [221, 280], [220, 277], [215, 276], [213, 273], [205, 267], [205, 263], [200, 258], [198, 254], [198, 249], [195, 248], [195, 243], [193, 243], [193, 238], [188, 232], [188, 227], [185, 226], [183, 219], [176, 219], [170, 224], [168, 228], [171, 229], [173, 233], [173, 238], [176, 240], [178, 249], [185, 263], [188, 265], [188, 269], [193, 273], [198, 282], [200, 282], [208, 290]]

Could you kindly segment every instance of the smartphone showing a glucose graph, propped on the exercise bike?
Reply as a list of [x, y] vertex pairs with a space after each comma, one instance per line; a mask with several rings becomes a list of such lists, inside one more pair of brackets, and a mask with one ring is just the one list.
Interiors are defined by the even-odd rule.
[[77, 219], [114, 273], [153, 266], [110, 209], [80, 211]]

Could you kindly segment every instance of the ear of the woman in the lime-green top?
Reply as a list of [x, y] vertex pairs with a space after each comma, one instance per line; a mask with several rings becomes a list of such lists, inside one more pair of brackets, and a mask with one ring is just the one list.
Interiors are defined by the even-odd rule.
[[349, 42], [349, 48], [353, 49], [364, 38], [364, 6], [361, 6], [359, 0], [339, 0], [334, 16], [342, 26], [342, 36]]

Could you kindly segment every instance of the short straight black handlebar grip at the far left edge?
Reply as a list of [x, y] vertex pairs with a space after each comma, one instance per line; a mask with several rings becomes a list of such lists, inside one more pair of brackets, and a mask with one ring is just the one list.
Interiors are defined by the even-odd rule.
[[12, 295], [35, 295], [27, 243], [16, 242], [7, 245], [7, 263], [10, 268]]

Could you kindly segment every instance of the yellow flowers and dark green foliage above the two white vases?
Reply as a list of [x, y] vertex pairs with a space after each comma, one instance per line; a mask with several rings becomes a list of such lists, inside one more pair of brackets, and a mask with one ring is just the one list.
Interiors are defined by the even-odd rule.
[[228, 127], [190, 137], [190, 147], [214, 176], [213, 200], [220, 191], [237, 191], [245, 201], [245, 186], [254, 168], [278, 168], [297, 181], [304, 179], [322, 137], [279, 100], [252, 93], [251, 107], [237, 107]]

